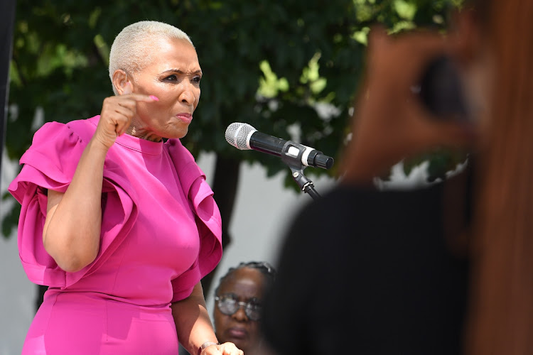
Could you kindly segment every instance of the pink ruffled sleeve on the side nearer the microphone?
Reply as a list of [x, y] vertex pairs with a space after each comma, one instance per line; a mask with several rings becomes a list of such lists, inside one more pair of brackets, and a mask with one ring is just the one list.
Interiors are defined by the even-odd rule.
[[200, 234], [198, 258], [188, 271], [172, 280], [172, 302], [183, 300], [193, 291], [194, 285], [210, 273], [222, 258], [222, 219], [213, 199], [213, 192], [205, 181], [205, 174], [196, 164], [193, 155], [178, 140], [168, 140], [171, 154], [183, 192], [188, 196], [196, 214]]

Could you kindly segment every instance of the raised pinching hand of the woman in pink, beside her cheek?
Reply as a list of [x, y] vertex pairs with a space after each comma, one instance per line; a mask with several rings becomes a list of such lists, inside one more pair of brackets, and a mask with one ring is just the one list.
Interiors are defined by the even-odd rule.
[[131, 124], [139, 101], [156, 102], [158, 99], [152, 95], [133, 94], [130, 82], [126, 82], [122, 95], [105, 98], [93, 139], [100, 141], [106, 148], [111, 148], [117, 137], [124, 134]]

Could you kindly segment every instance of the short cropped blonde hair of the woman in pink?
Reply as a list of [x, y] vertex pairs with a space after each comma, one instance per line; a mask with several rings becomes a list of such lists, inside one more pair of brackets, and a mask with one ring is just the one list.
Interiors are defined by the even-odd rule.
[[158, 38], [184, 39], [193, 45], [187, 33], [168, 23], [139, 21], [124, 27], [114, 38], [109, 53], [109, 78], [115, 95], [117, 89], [113, 85], [113, 73], [121, 69], [131, 74], [145, 67], [154, 56], [150, 43]]

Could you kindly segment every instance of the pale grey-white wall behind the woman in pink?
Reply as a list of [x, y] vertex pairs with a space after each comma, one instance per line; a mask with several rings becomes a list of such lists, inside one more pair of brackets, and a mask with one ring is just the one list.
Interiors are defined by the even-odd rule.
[[[261, 153], [257, 153], [261, 154]], [[13, 180], [17, 168], [2, 159], [1, 192], [4, 193]], [[281, 161], [280, 161], [281, 163]], [[214, 155], [205, 154], [198, 165], [209, 177], [213, 175]], [[288, 169], [288, 168], [287, 168]], [[304, 173], [313, 180], [316, 191], [323, 194], [334, 181], [313, 178], [307, 168]], [[296, 182], [294, 182], [296, 184]], [[216, 199], [216, 196], [215, 196]], [[227, 268], [241, 261], [269, 261], [276, 263], [280, 236], [295, 210], [303, 203], [311, 202], [311, 196], [283, 187], [280, 175], [266, 178], [266, 170], [260, 165], [244, 164], [239, 179], [234, 217], [230, 226], [233, 241], [224, 251], [214, 282], [217, 283]], [[8, 206], [1, 202], [0, 212]], [[21, 353], [26, 331], [33, 317], [36, 286], [30, 283], [18, 259], [16, 236], [0, 239], [0, 355]], [[212, 295], [208, 296], [208, 309], [212, 312]]]

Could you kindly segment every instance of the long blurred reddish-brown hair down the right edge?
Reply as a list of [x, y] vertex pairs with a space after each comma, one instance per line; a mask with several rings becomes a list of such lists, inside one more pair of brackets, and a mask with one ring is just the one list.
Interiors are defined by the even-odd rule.
[[[478, 0], [479, 1], [479, 0]], [[470, 309], [465, 354], [527, 354], [533, 349], [533, 1], [488, 1], [495, 65], [476, 160]]]

